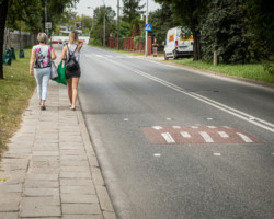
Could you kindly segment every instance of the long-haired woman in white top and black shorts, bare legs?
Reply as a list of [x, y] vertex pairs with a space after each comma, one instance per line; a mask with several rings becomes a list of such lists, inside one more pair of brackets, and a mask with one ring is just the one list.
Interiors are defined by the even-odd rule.
[[[69, 34], [69, 43], [68, 46], [64, 46], [62, 53], [61, 53], [61, 59], [62, 60], [69, 60], [70, 56], [75, 56], [75, 59], [79, 65], [79, 58], [80, 58], [80, 50], [82, 48], [82, 43], [78, 39], [77, 32], [72, 31]], [[70, 110], [76, 110], [76, 102], [78, 97], [78, 83], [81, 76], [80, 67], [76, 71], [69, 71], [66, 69], [66, 78], [68, 83], [68, 96], [70, 101]]]

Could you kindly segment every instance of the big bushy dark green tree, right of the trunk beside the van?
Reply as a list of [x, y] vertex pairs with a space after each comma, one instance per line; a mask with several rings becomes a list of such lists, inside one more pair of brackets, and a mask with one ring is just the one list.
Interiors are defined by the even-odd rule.
[[251, 37], [246, 25], [241, 0], [214, 0], [202, 27], [203, 58], [212, 60], [216, 50], [226, 64], [251, 60]]

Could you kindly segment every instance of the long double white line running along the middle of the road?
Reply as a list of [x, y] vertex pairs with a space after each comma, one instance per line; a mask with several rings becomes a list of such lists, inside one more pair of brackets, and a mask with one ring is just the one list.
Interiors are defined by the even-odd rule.
[[[107, 58], [105, 58], [105, 59], [107, 59]], [[244, 112], [238, 111], [238, 110], [236, 110], [236, 108], [232, 108], [232, 107], [230, 107], [230, 106], [227, 106], [227, 105], [225, 105], [225, 104], [221, 104], [221, 103], [219, 103], [219, 102], [217, 102], [217, 101], [210, 100], [210, 99], [205, 97], [205, 96], [203, 96], [203, 95], [199, 95], [199, 94], [197, 94], [197, 93], [185, 91], [185, 90], [182, 89], [181, 87], [178, 87], [178, 85], [175, 85], [175, 84], [173, 84], [173, 83], [170, 83], [170, 82], [168, 82], [168, 81], [164, 81], [164, 80], [162, 80], [162, 79], [160, 79], [160, 78], [153, 77], [153, 76], [151, 76], [151, 74], [149, 74], [149, 73], [146, 73], [146, 72], [144, 72], [144, 71], [134, 69], [134, 68], [132, 68], [132, 67], [127, 67], [127, 66], [125, 66], [125, 65], [123, 65], [123, 64], [121, 64], [121, 62], [118, 62], [118, 61], [113, 60], [113, 59], [107, 59], [107, 60], [111, 61], [111, 62], [113, 62], [113, 64], [115, 64], [115, 65], [117, 65], [117, 66], [121, 66], [121, 67], [123, 67], [123, 68], [125, 68], [125, 69], [127, 69], [127, 70], [129, 70], [129, 71], [133, 71], [133, 72], [135, 72], [135, 73], [137, 73], [137, 74], [139, 74], [139, 76], [142, 76], [142, 77], [148, 78], [148, 79], [150, 79], [150, 80], [152, 80], [152, 81], [156, 81], [156, 82], [158, 82], [158, 83], [161, 83], [161, 84], [163, 84], [163, 85], [165, 85], [165, 87], [168, 87], [168, 88], [170, 88], [170, 89], [172, 89], [172, 90], [175, 90], [175, 91], [181, 92], [181, 93], [183, 93], [183, 94], [185, 94], [185, 95], [189, 95], [189, 96], [191, 96], [191, 97], [193, 97], [193, 99], [196, 99], [196, 100], [198, 100], [198, 101], [201, 101], [201, 102], [204, 102], [204, 103], [206, 103], [206, 104], [208, 104], [208, 105], [210, 105], [210, 106], [213, 106], [213, 107], [215, 107], [215, 108], [218, 108], [218, 110], [220, 110], [220, 111], [224, 111], [224, 112], [226, 112], [226, 113], [228, 113], [228, 114], [230, 114], [230, 115], [233, 115], [233, 116], [236, 116], [236, 117], [238, 117], [238, 118], [241, 118], [241, 119], [243, 119], [243, 120], [246, 120], [246, 122], [249, 122], [249, 123], [251, 123], [251, 124], [253, 124], [253, 125], [255, 125], [255, 126], [259, 126], [259, 127], [261, 127], [261, 128], [263, 128], [263, 129], [266, 129], [266, 130], [269, 130], [269, 131], [271, 131], [271, 132], [274, 132], [274, 124], [272, 124], [272, 123], [269, 123], [269, 122], [263, 120], [263, 119], [261, 119], [261, 118], [254, 117], [254, 116], [249, 115], [249, 114], [247, 114], [247, 113], [244, 113]], [[253, 117], [254, 120], [250, 120], [250, 119], [249, 119], [250, 117]]]

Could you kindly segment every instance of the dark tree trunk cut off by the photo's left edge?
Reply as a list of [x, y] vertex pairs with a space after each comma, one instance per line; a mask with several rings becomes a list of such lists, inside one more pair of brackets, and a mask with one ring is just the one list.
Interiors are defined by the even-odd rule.
[[4, 27], [8, 13], [8, 1], [2, 0], [0, 3], [0, 79], [3, 79], [3, 39], [4, 39]]

